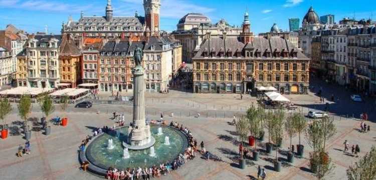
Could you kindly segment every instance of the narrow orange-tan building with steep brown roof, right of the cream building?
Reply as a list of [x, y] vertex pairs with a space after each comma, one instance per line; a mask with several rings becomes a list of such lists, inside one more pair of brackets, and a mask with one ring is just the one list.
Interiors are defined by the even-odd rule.
[[68, 83], [69, 87], [75, 88], [81, 82], [81, 51], [74, 43], [69, 34], [63, 37], [59, 61], [60, 82]]

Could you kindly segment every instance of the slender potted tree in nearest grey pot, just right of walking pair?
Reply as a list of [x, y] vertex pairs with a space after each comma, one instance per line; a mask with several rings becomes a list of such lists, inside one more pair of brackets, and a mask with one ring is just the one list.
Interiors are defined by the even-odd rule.
[[276, 146], [276, 159], [274, 162], [274, 170], [279, 172], [281, 171], [281, 161], [278, 160], [278, 149], [281, 147], [283, 140], [283, 125], [285, 123], [285, 111], [278, 109], [274, 112], [272, 118], [272, 129], [271, 129], [271, 140]]

